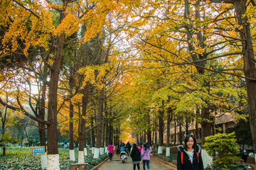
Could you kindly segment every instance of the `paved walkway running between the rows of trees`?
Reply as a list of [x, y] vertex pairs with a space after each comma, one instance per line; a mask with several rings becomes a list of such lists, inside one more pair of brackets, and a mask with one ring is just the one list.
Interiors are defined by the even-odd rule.
[[[159, 159], [150, 157], [150, 170], [176, 170], [174, 166], [161, 162]], [[136, 167], [137, 169], [137, 167]], [[143, 164], [140, 164], [140, 169], [143, 170]], [[117, 155], [114, 155], [113, 161], [107, 160], [99, 170], [133, 170], [132, 158], [128, 157], [127, 162], [122, 163]], [[146, 168], [147, 170], [147, 168]]]

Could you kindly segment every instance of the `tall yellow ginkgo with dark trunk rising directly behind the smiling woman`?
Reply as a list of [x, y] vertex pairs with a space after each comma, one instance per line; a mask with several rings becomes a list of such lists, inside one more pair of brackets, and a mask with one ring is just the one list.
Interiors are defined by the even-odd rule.
[[[140, 45], [140, 51], [146, 51], [147, 54], [151, 55], [154, 54], [154, 59], [150, 60], [166, 62], [166, 66], [162, 67], [174, 67], [175, 72], [183, 72], [183, 75], [176, 75], [176, 77], [181, 78], [181, 81], [176, 81], [181, 84], [184, 94], [184, 97], [180, 98], [182, 100], [177, 111], [180, 113], [185, 111], [186, 113], [185, 108], [190, 108], [193, 111], [193, 108], [196, 110], [199, 107], [202, 111], [201, 117], [203, 119], [201, 119], [201, 124], [203, 132], [206, 132], [203, 133], [203, 137], [205, 137], [210, 135], [211, 132], [209, 128], [211, 128], [213, 122], [209, 122], [209, 120], [213, 118], [213, 115], [211, 115], [213, 108], [218, 106], [225, 109], [230, 105], [227, 101], [224, 102], [228, 104], [227, 106], [221, 105], [221, 100], [218, 98], [220, 98], [220, 94], [223, 94], [223, 89], [220, 89], [222, 91], [220, 93], [218, 90], [211, 88], [211, 86], [214, 84], [215, 87], [225, 87], [226, 85], [222, 84], [221, 80], [218, 84], [218, 79], [223, 77], [223, 74], [240, 77], [242, 72], [241, 70], [239, 71], [238, 67], [242, 66], [240, 64], [240, 55], [242, 53], [231, 50], [232, 47], [228, 43], [235, 43], [235, 40], [226, 40], [225, 37], [216, 39], [220, 35], [214, 30], [216, 22], [210, 20], [210, 18], [218, 16], [218, 11], [213, 13], [214, 8], [209, 7], [208, 4], [201, 4], [200, 1], [184, 2], [185, 4], [178, 4], [172, 1], [150, 1], [148, 4], [145, 3], [139, 6], [134, 9], [134, 15], [139, 16], [140, 19], [131, 23], [133, 29], [128, 33], [131, 37], [137, 36], [137, 40], [133, 41], [132, 44], [137, 45], [137, 47]], [[220, 5], [218, 10], [222, 10], [223, 7], [223, 5]], [[178, 8], [183, 9], [182, 13], [177, 10]], [[204, 17], [203, 13], [205, 13]], [[230, 14], [228, 13], [225, 17], [234, 23]], [[227, 23], [221, 24], [221, 26], [225, 27]], [[142, 46], [144, 43], [147, 46]], [[158, 49], [158, 51], [154, 52], [154, 49]], [[164, 53], [168, 55], [164, 55]], [[224, 57], [227, 60], [218, 60], [218, 58], [223, 59]], [[149, 60], [149, 58], [146, 58], [146, 60]], [[223, 67], [220, 67], [221, 64], [224, 64]], [[153, 65], [142, 65], [149, 69], [154, 68], [154, 72], [159, 69], [159, 67]], [[182, 67], [182, 65], [186, 67]], [[182, 71], [180, 71], [181, 69]], [[225, 69], [227, 72], [223, 72], [221, 69]], [[233, 74], [233, 70], [238, 72]], [[220, 77], [217, 79], [216, 75], [218, 73]], [[225, 75], [224, 77], [223, 81], [234, 81], [232, 76]], [[196, 84], [194, 81], [198, 81], [198, 83]], [[225, 88], [228, 89], [228, 86]], [[236, 90], [233, 92], [228, 91], [231, 95], [225, 93], [223, 97], [225, 95], [232, 97], [234, 92], [239, 94], [241, 93], [240, 90], [243, 91], [242, 88]], [[187, 94], [191, 94], [191, 96], [186, 97]], [[214, 98], [211, 97], [213, 94], [215, 94]], [[244, 95], [242, 96], [245, 97]], [[216, 101], [220, 105], [217, 105]], [[238, 103], [235, 103], [234, 106], [236, 104]], [[188, 107], [184, 107], [186, 105]], [[227, 111], [233, 111], [233, 108], [236, 107], [228, 106], [228, 108]]]

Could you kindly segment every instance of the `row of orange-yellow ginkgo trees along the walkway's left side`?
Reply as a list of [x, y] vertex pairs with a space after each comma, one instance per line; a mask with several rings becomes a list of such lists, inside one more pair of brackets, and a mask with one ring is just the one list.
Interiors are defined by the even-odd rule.
[[38, 122], [50, 169], [59, 169], [58, 127], [68, 131], [71, 150], [77, 138], [78, 162], [84, 162], [86, 132], [93, 138], [97, 129], [95, 157], [102, 141], [118, 139], [113, 122], [120, 118], [106, 99], [123, 69], [110, 58], [119, 55], [113, 45], [122, 23], [116, 23], [126, 8], [118, 1], [1, 2], [1, 96], [8, 96], [1, 104]]

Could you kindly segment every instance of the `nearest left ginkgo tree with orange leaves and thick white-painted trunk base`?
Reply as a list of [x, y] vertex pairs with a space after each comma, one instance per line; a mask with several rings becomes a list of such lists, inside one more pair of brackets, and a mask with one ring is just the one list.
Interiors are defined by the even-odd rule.
[[[83, 40], [90, 40], [102, 30], [107, 13], [118, 9], [118, 6], [118, 1], [88, 1], [86, 4], [77, 4], [73, 1], [61, 1], [60, 4], [50, 1], [11, 1], [11, 3], [4, 2], [1, 5], [1, 26], [7, 30], [2, 39], [4, 50], [1, 51], [1, 55], [19, 50], [26, 58], [30, 47], [36, 46], [41, 46], [48, 51], [48, 57], [44, 59], [45, 64], [50, 69], [48, 120], [45, 123], [47, 122], [48, 125], [48, 167], [51, 169], [59, 169], [57, 94], [65, 37], [78, 31], [80, 24], [86, 23], [87, 30]], [[78, 8], [82, 11], [79, 16], [76, 13]], [[55, 18], [52, 18], [53, 12], [51, 10], [58, 17], [55, 21], [53, 21]], [[9, 18], [8, 15], [13, 16], [13, 18]], [[30, 29], [26, 27], [28, 23], [31, 24]], [[23, 46], [19, 46], [16, 40], [21, 40]]]

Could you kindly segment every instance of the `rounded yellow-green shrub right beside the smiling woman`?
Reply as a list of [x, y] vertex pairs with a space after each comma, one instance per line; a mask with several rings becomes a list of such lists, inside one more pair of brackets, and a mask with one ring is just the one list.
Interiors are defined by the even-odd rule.
[[235, 155], [239, 153], [239, 149], [235, 132], [208, 136], [203, 147], [213, 157], [213, 166], [219, 166], [222, 169], [233, 169], [236, 166], [235, 160], [238, 160], [238, 157]]

